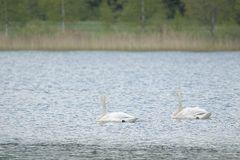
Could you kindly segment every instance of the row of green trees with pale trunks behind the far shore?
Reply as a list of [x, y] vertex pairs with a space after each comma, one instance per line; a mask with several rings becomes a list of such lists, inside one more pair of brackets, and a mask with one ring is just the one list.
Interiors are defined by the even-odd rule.
[[100, 21], [106, 26], [126, 23], [161, 26], [168, 21], [205, 25], [213, 34], [216, 24], [240, 25], [240, 0], [0, 0], [0, 24], [31, 21]]

